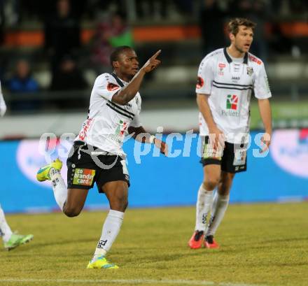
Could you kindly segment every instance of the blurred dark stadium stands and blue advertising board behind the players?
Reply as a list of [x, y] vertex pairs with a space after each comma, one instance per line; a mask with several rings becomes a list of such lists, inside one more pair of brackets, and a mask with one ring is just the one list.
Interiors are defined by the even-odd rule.
[[[41, 196], [29, 200], [21, 194], [24, 199], [18, 205], [15, 190], [23, 185], [20, 192], [26, 188], [33, 197], [46, 190], [34, 178], [45, 162], [37, 152], [38, 138], [45, 132], [58, 138], [65, 132], [78, 134], [92, 83], [99, 73], [110, 71], [109, 53], [117, 45], [134, 46], [141, 64], [162, 49], [162, 65], [146, 76], [141, 89], [146, 129], [155, 133], [163, 127], [165, 134], [197, 131], [198, 65], [207, 52], [228, 44], [225, 24], [234, 16], [258, 23], [251, 52], [266, 63], [276, 130], [267, 157], [254, 158], [251, 148], [248, 172], [238, 176], [232, 201], [307, 199], [307, 6], [307, 1], [299, 0], [1, 1], [0, 77], [8, 112], [1, 119], [0, 150], [11, 170], [0, 187], [3, 208], [26, 211], [55, 206], [51, 194], [48, 200]], [[256, 134], [262, 124], [255, 101], [251, 115]], [[173, 142], [183, 148], [183, 141], [174, 138]], [[125, 147], [129, 158], [131, 145]], [[150, 153], [142, 168], [130, 158], [131, 206], [195, 203], [202, 178], [196, 149], [190, 157], [182, 154], [168, 160], [151, 158]], [[52, 156], [57, 156], [57, 150]], [[159, 173], [162, 162], [167, 176]], [[251, 185], [259, 177], [262, 180]], [[139, 178], [151, 180], [148, 194]], [[251, 185], [250, 190], [246, 185]], [[153, 198], [151, 192], [158, 195]]]

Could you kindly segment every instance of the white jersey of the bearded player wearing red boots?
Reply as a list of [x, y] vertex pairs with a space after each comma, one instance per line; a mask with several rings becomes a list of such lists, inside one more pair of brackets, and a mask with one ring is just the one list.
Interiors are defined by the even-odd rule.
[[[235, 59], [221, 48], [202, 59], [196, 92], [209, 94], [214, 122], [229, 143], [241, 143], [241, 134], [249, 132], [252, 91], [257, 99], [272, 96], [264, 64], [258, 57], [246, 53], [244, 59]], [[200, 135], [209, 135], [201, 113], [199, 120]]]

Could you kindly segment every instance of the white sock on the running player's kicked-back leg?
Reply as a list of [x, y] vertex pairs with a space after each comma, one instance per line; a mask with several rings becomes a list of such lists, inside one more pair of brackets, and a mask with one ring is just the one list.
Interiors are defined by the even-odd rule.
[[52, 183], [52, 190], [55, 196], [55, 201], [57, 201], [59, 208], [63, 210], [63, 206], [67, 197], [67, 187], [59, 170], [51, 168], [49, 171], [49, 176]]

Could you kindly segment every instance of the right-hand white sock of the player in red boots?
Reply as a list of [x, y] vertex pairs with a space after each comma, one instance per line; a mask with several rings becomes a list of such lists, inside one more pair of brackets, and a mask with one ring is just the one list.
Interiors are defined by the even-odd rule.
[[230, 199], [230, 194], [227, 196], [222, 196], [216, 192], [214, 196], [212, 211], [211, 211], [211, 220], [209, 221], [209, 228], [207, 229], [207, 236], [214, 236], [216, 230], [221, 224], [223, 217], [225, 216], [225, 210], [228, 208]]

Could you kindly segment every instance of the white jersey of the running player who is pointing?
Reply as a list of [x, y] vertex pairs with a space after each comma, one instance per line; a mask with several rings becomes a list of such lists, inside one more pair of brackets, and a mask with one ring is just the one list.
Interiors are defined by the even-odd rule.
[[136, 96], [125, 106], [111, 101], [121, 86], [128, 85], [110, 73], [103, 73], [94, 82], [87, 120], [83, 122], [75, 141], [83, 141], [106, 152], [125, 156], [122, 146], [127, 128], [140, 127], [141, 96]]

